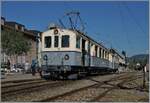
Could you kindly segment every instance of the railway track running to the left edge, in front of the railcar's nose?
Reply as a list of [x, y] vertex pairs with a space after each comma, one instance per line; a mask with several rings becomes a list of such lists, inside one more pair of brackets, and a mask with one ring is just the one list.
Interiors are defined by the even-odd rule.
[[51, 86], [59, 86], [62, 85], [61, 81], [39, 81], [39, 82], [30, 82], [25, 84], [17, 84], [16, 86], [8, 86], [8, 88], [2, 88], [1, 96], [2, 99], [7, 96], [18, 95], [20, 93], [28, 93], [36, 90], [43, 89], [44, 87]]

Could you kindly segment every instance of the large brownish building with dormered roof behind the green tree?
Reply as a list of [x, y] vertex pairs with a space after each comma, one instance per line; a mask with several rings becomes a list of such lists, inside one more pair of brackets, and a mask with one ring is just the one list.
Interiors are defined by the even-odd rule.
[[17, 22], [12, 22], [12, 21], [6, 21], [4, 17], [1, 17], [1, 31], [5, 31], [5, 30], [10, 30], [10, 31], [15, 30], [16, 32], [23, 33], [23, 37], [28, 40], [29, 45], [31, 45], [31, 49], [28, 53], [19, 55], [17, 56], [17, 58], [15, 56], [9, 57], [3, 52], [3, 50], [1, 50], [2, 62], [6, 62], [7, 59], [10, 59], [11, 64], [16, 64], [16, 63], [24, 64], [26, 61], [31, 63], [33, 59], [37, 58], [36, 35], [40, 34], [41, 33], [40, 31], [35, 32], [35, 30], [28, 30], [22, 24], [19, 24]]

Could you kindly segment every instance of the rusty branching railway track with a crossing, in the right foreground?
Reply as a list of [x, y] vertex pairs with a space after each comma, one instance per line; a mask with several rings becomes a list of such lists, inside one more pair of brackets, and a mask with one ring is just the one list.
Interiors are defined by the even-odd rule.
[[[91, 79], [92, 81], [95, 81], [96, 83], [92, 84], [92, 85], [89, 85], [89, 86], [85, 86], [85, 87], [82, 87], [82, 88], [78, 88], [78, 89], [75, 89], [75, 90], [71, 90], [71, 91], [68, 91], [68, 92], [65, 92], [63, 94], [59, 94], [59, 95], [56, 95], [56, 96], [52, 96], [52, 97], [49, 97], [49, 98], [46, 98], [46, 99], [42, 99], [42, 100], [39, 100], [38, 102], [54, 102], [54, 101], [57, 101], [60, 100], [60, 98], [64, 98], [64, 97], [67, 97], [67, 96], [70, 96], [72, 94], [76, 94], [77, 92], [82, 92], [82, 91], [85, 91], [87, 89], [90, 89], [90, 88], [93, 88], [93, 87], [100, 87], [102, 85], [105, 85], [105, 84], [108, 84], [109, 82], [113, 82], [113, 81], [121, 81], [119, 83], [117, 83], [115, 86], [113, 84], [113, 87], [110, 88], [108, 91], [102, 93], [101, 95], [99, 95], [98, 97], [95, 97], [94, 99], [91, 99], [90, 101], [96, 101], [97, 99], [101, 98], [103, 95], [105, 95], [105, 93], [111, 91], [112, 89], [115, 89], [115, 88], [121, 88], [122, 84], [124, 82], [127, 82], [129, 80], [133, 80], [133, 79], [136, 79], [135, 78], [135, 75], [133, 76], [132, 75], [128, 75], [126, 76], [127, 74], [122, 74], [120, 76], [117, 76], [117, 77], [114, 77], [114, 78], [111, 78], [109, 80], [106, 80], [106, 81], [103, 81], [103, 82], [99, 82], [99, 81], [96, 81], [96, 80], [93, 80]], [[110, 85], [110, 84], [109, 84]]]

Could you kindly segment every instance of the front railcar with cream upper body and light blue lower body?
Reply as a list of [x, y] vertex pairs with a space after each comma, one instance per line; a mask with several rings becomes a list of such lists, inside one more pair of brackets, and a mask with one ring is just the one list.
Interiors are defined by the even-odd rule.
[[118, 69], [111, 50], [77, 30], [51, 27], [42, 33], [41, 47], [43, 76], [68, 78]]

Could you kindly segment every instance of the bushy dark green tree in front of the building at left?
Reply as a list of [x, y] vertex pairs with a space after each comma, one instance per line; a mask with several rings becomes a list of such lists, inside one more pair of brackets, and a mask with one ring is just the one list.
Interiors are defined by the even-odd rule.
[[3, 52], [9, 56], [21, 55], [30, 50], [30, 45], [21, 32], [2, 30], [1, 43]]

